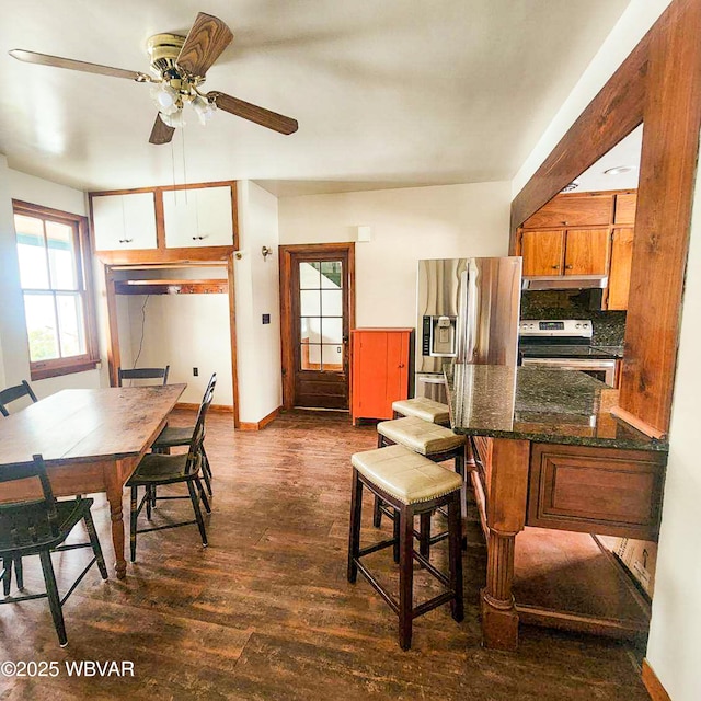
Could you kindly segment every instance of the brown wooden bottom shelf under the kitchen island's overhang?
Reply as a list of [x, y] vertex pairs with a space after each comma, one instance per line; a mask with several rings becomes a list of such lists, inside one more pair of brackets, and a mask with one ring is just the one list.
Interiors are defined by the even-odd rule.
[[522, 623], [635, 639], [650, 604], [588, 533], [527, 527], [516, 538], [514, 597]]

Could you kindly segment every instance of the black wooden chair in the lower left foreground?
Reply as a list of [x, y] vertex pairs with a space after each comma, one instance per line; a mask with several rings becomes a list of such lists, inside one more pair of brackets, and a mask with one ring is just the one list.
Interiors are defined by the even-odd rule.
[[[41, 455], [33, 456], [30, 462], [0, 464], [0, 484], [4, 485], [15, 480], [28, 479], [38, 480], [43, 498], [0, 505], [0, 558], [3, 563], [0, 578], [3, 581], [5, 593], [5, 598], [0, 604], [48, 598], [58, 642], [61, 647], [65, 647], [68, 644], [62, 611], [66, 599], [72, 594], [95, 562], [102, 578], [107, 578], [105, 560], [102, 555], [100, 540], [90, 514], [93, 499], [78, 497], [61, 502], [56, 501], [46, 474], [46, 466]], [[64, 542], [71, 530], [81, 520], [85, 524], [90, 542], [65, 545]], [[93, 558], [73, 582], [68, 594], [61, 598], [51, 564], [51, 552], [74, 550], [77, 548], [92, 548]], [[8, 597], [9, 579], [12, 576], [9, 563], [30, 555], [38, 555], [42, 561], [46, 591], [44, 594]]]

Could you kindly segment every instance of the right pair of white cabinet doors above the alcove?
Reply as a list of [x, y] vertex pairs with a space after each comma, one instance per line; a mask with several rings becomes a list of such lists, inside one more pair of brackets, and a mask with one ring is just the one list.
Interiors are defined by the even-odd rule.
[[163, 192], [165, 248], [233, 245], [231, 187]]

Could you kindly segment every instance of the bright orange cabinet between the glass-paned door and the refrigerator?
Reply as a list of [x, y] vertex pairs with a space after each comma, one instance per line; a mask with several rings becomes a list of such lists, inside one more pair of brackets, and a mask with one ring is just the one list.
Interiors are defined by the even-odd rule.
[[413, 329], [354, 329], [350, 417], [392, 418], [392, 402], [409, 398]]

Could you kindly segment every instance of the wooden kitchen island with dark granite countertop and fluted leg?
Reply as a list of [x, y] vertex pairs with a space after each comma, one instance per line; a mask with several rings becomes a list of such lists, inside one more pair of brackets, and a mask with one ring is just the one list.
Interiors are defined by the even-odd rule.
[[[552, 537], [656, 540], [668, 444], [614, 418], [618, 391], [583, 372], [450, 364], [445, 374], [452, 429], [471, 436], [470, 476], [487, 541], [484, 644], [516, 650], [519, 620], [609, 635], [645, 632], [640, 601], [613, 556], [597, 551], [609, 574], [596, 564], [600, 558], [563, 561], [553, 555]], [[542, 558], [533, 554], [539, 544]], [[567, 568], [576, 571], [571, 582], [588, 576], [598, 588], [574, 591], [572, 607], [517, 600], [519, 549], [540, 578], [531, 590], [552, 589]], [[586, 560], [598, 567], [594, 574], [585, 574]]]

